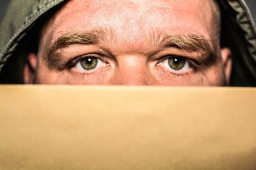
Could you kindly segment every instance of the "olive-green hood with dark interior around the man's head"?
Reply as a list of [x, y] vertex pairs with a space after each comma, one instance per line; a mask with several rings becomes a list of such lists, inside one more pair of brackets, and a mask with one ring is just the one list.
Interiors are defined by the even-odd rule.
[[[10, 1], [0, 22], [0, 83], [23, 83], [24, 49], [36, 44], [36, 25], [45, 16], [51, 17], [51, 11], [65, 1]], [[243, 0], [218, 0], [218, 3], [221, 46], [232, 50], [230, 85], [256, 86], [256, 31], [250, 11]]]

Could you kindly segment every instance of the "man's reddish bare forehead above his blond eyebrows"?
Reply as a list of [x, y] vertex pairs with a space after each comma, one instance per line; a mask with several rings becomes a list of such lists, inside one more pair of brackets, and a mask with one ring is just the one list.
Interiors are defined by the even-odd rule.
[[47, 25], [52, 38], [65, 32], [110, 27], [122, 39], [141, 39], [150, 32], [200, 34], [212, 39], [213, 1], [72, 0]]

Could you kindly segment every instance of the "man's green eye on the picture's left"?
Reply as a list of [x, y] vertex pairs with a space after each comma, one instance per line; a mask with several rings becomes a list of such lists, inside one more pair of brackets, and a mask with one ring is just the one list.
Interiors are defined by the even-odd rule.
[[102, 62], [102, 60], [97, 57], [84, 57], [79, 60], [74, 67], [79, 71], [90, 71], [101, 66], [106, 66], [106, 63]]

